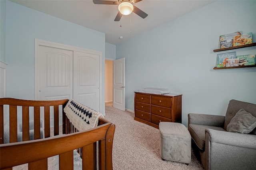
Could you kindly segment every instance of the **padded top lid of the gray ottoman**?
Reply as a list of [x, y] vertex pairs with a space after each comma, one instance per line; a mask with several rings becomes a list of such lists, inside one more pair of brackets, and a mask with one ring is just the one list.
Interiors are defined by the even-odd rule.
[[170, 137], [171, 135], [190, 136], [186, 126], [181, 123], [160, 122], [159, 130], [162, 137]]

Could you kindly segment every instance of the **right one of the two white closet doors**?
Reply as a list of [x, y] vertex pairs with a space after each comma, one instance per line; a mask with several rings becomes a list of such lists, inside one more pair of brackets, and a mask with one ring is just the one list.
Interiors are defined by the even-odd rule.
[[100, 111], [100, 56], [74, 51], [73, 98]]

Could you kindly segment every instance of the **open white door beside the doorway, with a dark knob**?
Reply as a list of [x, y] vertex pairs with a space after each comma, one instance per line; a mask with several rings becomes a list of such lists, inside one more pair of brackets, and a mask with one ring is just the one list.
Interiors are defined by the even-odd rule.
[[125, 110], [124, 58], [113, 61], [113, 107]]

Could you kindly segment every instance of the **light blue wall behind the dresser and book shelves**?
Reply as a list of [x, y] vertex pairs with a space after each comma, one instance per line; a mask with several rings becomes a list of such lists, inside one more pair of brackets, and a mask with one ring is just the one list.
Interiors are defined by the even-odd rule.
[[186, 126], [188, 113], [225, 115], [231, 99], [255, 104], [256, 68], [213, 70], [220, 35], [242, 30], [256, 42], [255, 9], [256, 1], [217, 1], [117, 45], [116, 59], [126, 58], [126, 108], [134, 110], [134, 92], [146, 87], [182, 94]]

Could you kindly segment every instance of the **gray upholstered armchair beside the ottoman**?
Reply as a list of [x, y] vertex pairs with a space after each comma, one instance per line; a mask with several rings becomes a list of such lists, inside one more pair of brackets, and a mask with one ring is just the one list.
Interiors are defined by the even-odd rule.
[[206, 170], [256, 170], [256, 128], [249, 134], [227, 131], [240, 109], [251, 113], [254, 121], [256, 104], [237, 100], [230, 100], [226, 116], [188, 114], [192, 147]]

